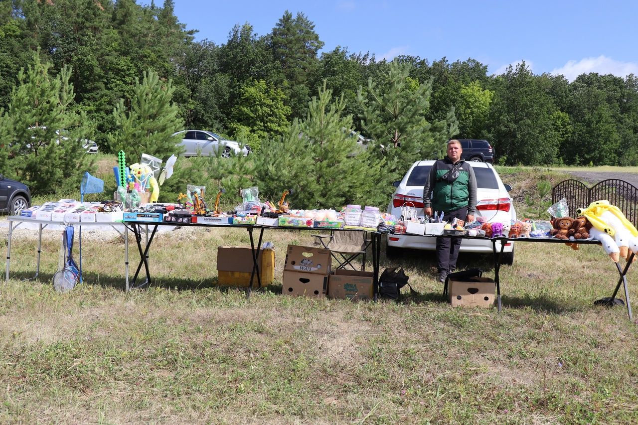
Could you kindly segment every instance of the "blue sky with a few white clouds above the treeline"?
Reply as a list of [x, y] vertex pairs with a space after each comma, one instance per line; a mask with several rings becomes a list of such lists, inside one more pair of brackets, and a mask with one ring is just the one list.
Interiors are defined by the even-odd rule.
[[[156, 0], [161, 4], [161, 0]], [[430, 62], [471, 57], [501, 73], [521, 60], [534, 73], [638, 75], [638, 1], [214, 1], [175, 0], [196, 40], [226, 43], [235, 24], [269, 33], [283, 13], [302, 12], [325, 45], [377, 59], [406, 54]]]

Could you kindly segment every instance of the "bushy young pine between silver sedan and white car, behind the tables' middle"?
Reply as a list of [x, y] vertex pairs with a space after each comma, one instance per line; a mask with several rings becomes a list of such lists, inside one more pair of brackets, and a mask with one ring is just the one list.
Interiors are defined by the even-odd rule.
[[371, 162], [366, 151], [359, 151], [356, 138], [344, 130], [352, 128], [352, 116], [341, 116], [343, 98], [331, 98], [332, 91], [324, 84], [309, 102], [306, 119], [293, 121], [281, 140], [262, 145], [256, 179], [266, 197], [276, 198], [292, 189], [292, 205], [304, 209], [377, 202], [378, 184], [387, 183], [381, 172], [383, 161]]

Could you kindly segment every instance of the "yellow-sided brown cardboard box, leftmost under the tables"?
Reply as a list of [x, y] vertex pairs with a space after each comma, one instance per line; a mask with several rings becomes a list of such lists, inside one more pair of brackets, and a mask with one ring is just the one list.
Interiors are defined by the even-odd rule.
[[[270, 285], [275, 277], [275, 251], [259, 251], [259, 274], [262, 285]], [[244, 246], [219, 246], [217, 248], [217, 270], [219, 285], [248, 287], [253, 272], [253, 253]], [[258, 285], [257, 276], [253, 287]]]

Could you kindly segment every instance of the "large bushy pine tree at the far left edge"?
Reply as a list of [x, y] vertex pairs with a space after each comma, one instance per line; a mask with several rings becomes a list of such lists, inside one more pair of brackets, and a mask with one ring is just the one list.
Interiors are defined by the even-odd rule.
[[18, 74], [19, 86], [11, 94], [4, 116], [8, 135], [8, 171], [26, 183], [34, 195], [73, 190], [93, 158], [82, 145], [91, 136], [84, 114], [70, 110], [75, 94], [63, 68], [54, 77], [51, 64], [41, 63], [39, 51], [34, 64]]

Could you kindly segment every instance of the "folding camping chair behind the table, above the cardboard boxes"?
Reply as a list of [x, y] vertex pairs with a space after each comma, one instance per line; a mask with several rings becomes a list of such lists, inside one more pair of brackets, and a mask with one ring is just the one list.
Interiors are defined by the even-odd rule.
[[346, 266], [357, 268], [352, 264], [355, 258], [361, 256], [361, 271], [366, 270], [366, 250], [371, 244], [371, 239], [366, 239], [364, 230], [353, 230], [348, 232], [340, 232], [332, 230], [330, 235], [313, 235], [315, 237], [315, 245], [322, 245], [323, 248], [330, 250], [332, 258], [337, 260], [339, 267], [337, 269], [345, 269]]

